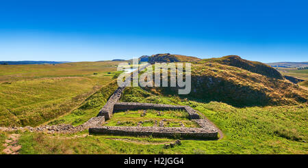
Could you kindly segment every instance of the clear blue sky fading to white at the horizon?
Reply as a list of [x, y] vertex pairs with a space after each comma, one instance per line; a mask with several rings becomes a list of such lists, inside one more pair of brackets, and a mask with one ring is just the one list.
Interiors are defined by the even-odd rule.
[[1, 1], [0, 60], [308, 61], [305, 1]]

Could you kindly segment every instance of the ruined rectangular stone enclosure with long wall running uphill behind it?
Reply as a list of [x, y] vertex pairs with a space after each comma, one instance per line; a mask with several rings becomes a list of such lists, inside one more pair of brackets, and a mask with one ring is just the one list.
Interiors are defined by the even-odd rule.
[[[139, 72], [149, 65], [139, 68]], [[136, 70], [138, 71], [138, 70]], [[131, 77], [138, 75], [132, 73]], [[130, 81], [125, 81], [128, 83]], [[120, 85], [114, 94], [110, 96], [105, 106], [99, 111], [97, 117], [92, 120], [95, 126], [89, 128], [90, 134], [111, 134], [111, 135], [133, 135], [133, 136], [153, 136], [153, 137], [185, 137], [193, 139], [218, 139], [218, 128], [205, 119], [201, 119], [200, 115], [188, 106], [175, 106], [170, 104], [151, 104], [139, 102], [118, 102], [125, 89], [126, 84]], [[155, 110], [183, 110], [187, 111], [189, 119], [196, 122], [201, 128], [186, 127], [164, 127], [164, 126], [101, 126], [103, 120], [109, 120], [113, 113], [117, 111], [138, 110], [138, 109], [155, 109]], [[97, 120], [100, 119], [100, 120]], [[97, 122], [99, 121], [99, 122]], [[92, 123], [92, 122], [91, 122]]]

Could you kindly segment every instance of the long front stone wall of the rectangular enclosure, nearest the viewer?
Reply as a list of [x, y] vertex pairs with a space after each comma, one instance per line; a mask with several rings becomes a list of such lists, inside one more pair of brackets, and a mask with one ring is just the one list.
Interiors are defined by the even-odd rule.
[[156, 126], [98, 126], [89, 128], [90, 134], [153, 136], [193, 139], [218, 139], [217, 130], [208, 128], [156, 127]]

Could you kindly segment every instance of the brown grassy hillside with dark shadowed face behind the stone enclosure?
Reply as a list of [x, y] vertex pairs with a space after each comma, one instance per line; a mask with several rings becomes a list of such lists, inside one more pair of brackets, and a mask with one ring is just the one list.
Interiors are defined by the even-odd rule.
[[[169, 83], [170, 83], [170, 79]], [[174, 96], [178, 87], [149, 87], [155, 94]], [[192, 89], [183, 95], [199, 102], [226, 102], [236, 107], [307, 103], [308, 92], [285, 79], [275, 79], [213, 61], [192, 64]]]

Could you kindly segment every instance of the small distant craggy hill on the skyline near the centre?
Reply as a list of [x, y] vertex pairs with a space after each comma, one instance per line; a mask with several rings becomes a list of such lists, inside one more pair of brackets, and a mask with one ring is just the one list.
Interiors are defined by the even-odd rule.
[[149, 57], [148, 62], [154, 64], [155, 62], [190, 62], [200, 61], [200, 58], [185, 56], [185, 55], [173, 55], [170, 53], [156, 54]]

